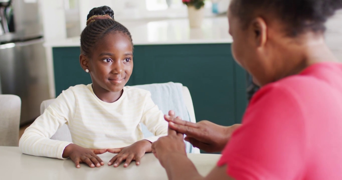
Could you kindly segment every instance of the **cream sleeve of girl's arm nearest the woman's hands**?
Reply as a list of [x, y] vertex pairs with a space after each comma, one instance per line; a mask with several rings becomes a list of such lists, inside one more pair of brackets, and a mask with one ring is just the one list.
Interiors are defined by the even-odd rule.
[[159, 110], [151, 99], [151, 93], [145, 97], [145, 107], [141, 122], [146, 125], [148, 131], [155, 136], [145, 138], [150, 142], [156, 141], [161, 136], [168, 134], [168, 123], [164, 119], [164, 114]]

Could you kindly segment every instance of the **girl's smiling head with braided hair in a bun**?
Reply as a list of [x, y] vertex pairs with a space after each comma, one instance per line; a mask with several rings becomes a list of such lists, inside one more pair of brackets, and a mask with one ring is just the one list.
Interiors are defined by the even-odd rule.
[[133, 43], [126, 27], [114, 20], [108, 6], [92, 9], [81, 34], [80, 64], [92, 78], [93, 87], [119, 92], [133, 70]]

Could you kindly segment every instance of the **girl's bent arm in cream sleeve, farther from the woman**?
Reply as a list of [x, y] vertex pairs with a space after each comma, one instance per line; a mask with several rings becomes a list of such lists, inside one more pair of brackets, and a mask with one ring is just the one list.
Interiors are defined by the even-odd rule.
[[62, 157], [64, 148], [71, 142], [52, 140], [50, 137], [74, 116], [75, 106], [73, 91], [63, 91], [25, 130], [19, 140], [19, 149], [25, 154], [65, 159]]

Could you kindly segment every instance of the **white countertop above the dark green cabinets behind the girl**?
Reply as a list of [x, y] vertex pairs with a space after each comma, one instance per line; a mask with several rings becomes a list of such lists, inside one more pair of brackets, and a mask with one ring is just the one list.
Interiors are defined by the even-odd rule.
[[[205, 18], [202, 27], [190, 29], [187, 18], [120, 22], [132, 34], [134, 45], [232, 43], [226, 17]], [[46, 42], [45, 47], [79, 47], [80, 37]]]

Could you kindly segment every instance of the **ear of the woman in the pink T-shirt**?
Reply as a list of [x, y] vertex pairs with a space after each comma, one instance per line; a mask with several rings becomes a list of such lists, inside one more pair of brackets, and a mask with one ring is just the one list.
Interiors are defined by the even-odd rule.
[[257, 47], [264, 47], [267, 42], [267, 25], [263, 18], [257, 17], [252, 20], [250, 32], [253, 33], [255, 45]]

